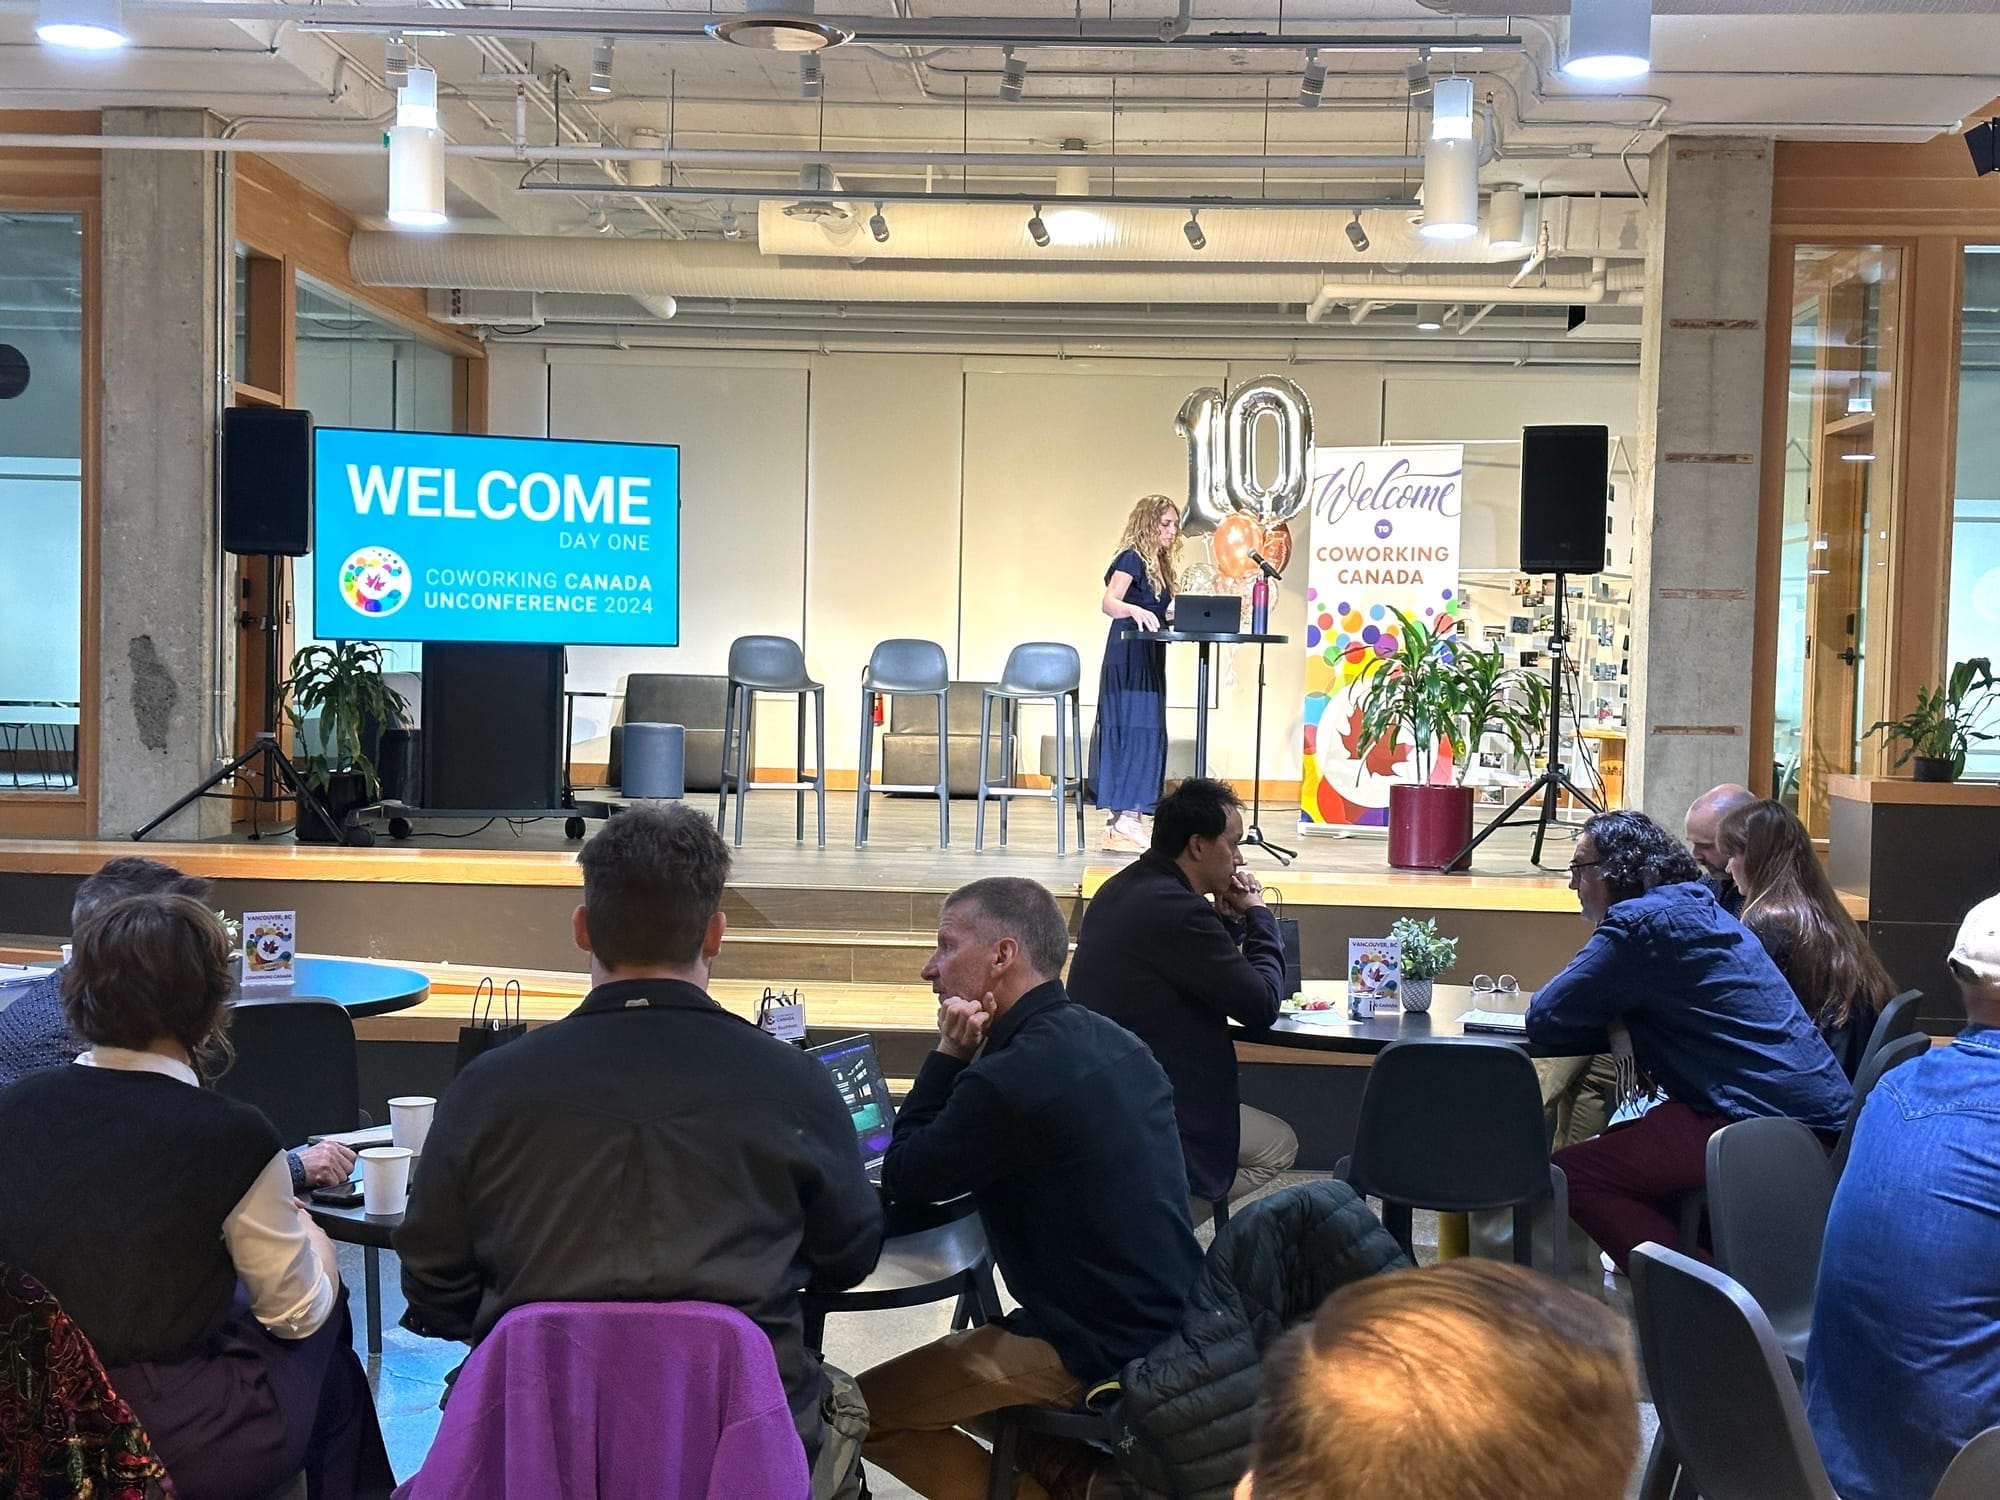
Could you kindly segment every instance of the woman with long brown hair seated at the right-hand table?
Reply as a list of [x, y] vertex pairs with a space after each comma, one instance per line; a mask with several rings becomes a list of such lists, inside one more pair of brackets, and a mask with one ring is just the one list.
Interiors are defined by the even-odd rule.
[[1746, 802], [1722, 820], [1716, 848], [1744, 894], [1742, 924], [1854, 1078], [1896, 982], [1834, 894], [1812, 836], [1782, 802]]

